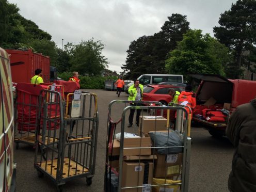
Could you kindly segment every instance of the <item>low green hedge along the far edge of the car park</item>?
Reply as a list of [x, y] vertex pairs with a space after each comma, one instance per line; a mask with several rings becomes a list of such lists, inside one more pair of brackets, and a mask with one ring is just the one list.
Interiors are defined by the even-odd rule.
[[[72, 72], [63, 72], [58, 73], [58, 77], [62, 78], [64, 81], [69, 81], [69, 78], [72, 77]], [[81, 89], [104, 89], [106, 80], [114, 80], [118, 79], [117, 76], [82, 76], [79, 75], [80, 79], [80, 88]]]

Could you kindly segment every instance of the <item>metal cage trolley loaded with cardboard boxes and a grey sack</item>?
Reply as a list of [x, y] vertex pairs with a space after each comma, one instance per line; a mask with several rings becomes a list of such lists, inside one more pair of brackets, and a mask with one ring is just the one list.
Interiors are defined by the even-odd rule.
[[[130, 109], [147, 111], [177, 110], [182, 119], [173, 130], [167, 119], [155, 115], [140, 116], [132, 135], [125, 137], [126, 112]], [[110, 170], [105, 176], [106, 191], [188, 191], [191, 139], [188, 135], [188, 113], [183, 106], [127, 106], [123, 109], [119, 141], [113, 132], [108, 141]], [[109, 126], [110, 127], [110, 126]], [[113, 140], [111, 140], [113, 139]], [[109, 154], [110, 153], [110, 154]], [[118, 158], [113, 158], [118, 155]], [[109, 157], [108, 157], [109, 160]], [[113, 166], [111, 166], [111, 164]]]

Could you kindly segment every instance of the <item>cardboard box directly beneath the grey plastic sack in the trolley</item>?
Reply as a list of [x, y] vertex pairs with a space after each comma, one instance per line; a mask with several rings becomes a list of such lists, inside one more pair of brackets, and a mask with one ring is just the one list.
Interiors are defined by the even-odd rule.
[[178, 176], [181, 172], [182, 153], [162, 155], [156, 152], [154, 178]]

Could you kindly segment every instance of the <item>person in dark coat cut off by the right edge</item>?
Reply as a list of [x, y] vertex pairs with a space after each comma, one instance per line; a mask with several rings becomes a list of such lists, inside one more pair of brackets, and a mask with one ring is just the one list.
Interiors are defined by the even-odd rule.
[[226, 134], [235, 146], [229, 190], [256, 191], [256, 98], [236, 108], [229, 118]]

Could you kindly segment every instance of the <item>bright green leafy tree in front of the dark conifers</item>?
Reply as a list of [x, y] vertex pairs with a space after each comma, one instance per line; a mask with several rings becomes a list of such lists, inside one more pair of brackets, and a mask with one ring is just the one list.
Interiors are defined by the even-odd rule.
[[229, 61], [228, 48], [202, 30], [189, 30], [177, 49], [169, 53], [166, 70], [170, 74], [205, 73], [225, 75], [224, 66]]

